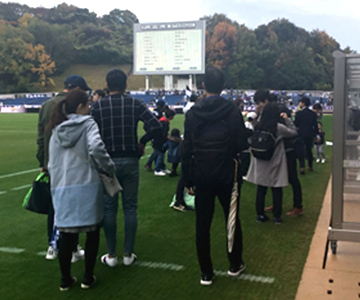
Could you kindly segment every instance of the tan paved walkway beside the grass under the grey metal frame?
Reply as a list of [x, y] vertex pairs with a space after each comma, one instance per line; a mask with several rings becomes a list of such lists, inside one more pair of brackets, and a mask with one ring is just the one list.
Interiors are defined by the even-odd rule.
[[338, 241], [336, 255], [332, 254], [331, 247], [329, 247], [326, 268], [322, 268], [330, 212], [331, 179], [310, 245], [296, 300], [360, 299], [360, 243]]

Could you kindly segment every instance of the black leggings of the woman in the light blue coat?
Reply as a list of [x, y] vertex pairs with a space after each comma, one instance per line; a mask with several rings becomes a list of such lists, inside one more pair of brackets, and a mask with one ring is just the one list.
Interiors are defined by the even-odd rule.
[[[61, 281], [69, 283], [71, 277], [71, 257], [73, 245], [79, 237], [78, 233], [60, 232], [59, 238], [59, 264], [61, 271]], [[85, 274], [84, 281], [90, 281], [94, 275], [96, 256], [99, 250], [100, 228], [86, 233], [85, 243]]]

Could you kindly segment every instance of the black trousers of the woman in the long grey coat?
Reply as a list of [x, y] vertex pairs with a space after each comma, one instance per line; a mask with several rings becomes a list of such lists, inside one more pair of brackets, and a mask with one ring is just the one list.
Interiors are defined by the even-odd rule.
[[[265, 196], [267, 192], [267, 186], [258, 185], [256, 191], [256, 213], [258, 215], [263, 215], [265, 208]], [[275, 218], [280, 218], [282, 213], [282, 188], [281, 187], [272, 187], [271, 188], [273, 196], [273, 214]]]

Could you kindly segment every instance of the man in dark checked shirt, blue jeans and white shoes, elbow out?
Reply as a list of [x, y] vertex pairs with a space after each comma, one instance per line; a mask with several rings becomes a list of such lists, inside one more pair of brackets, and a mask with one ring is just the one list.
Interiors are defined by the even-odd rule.
[[[162, 133], [162, 126], [149, 109], [139, 100], [126, 96], [127, 76], [120, 69], [113, 69], [106, 75], [109, 95], [96, 101], [90, 110], [99, 126], [101, 137], [116, 166], [116, 177], [121, 192], [125, 222], [123, 263], [131, 265], [135, 259], [134, 245], [138, 226], [137, 205], [139, 188], [139, 158], [144, 155], [145, 144]], [[138, 142], [139, 121], [149, 131]], [[119, 195], [104, 195], [104, 231], [108, 253], [101, 262], [115, 267], [119, 262], [116, 252], [117, 211]]]

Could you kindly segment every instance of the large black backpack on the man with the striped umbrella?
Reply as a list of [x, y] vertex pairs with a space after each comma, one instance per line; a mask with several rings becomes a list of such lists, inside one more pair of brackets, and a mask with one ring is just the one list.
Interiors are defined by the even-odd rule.
[[224, 120], [203, 121], [192, 132], [193, 174], [197, 182], [233, 180], [230, 133]]

